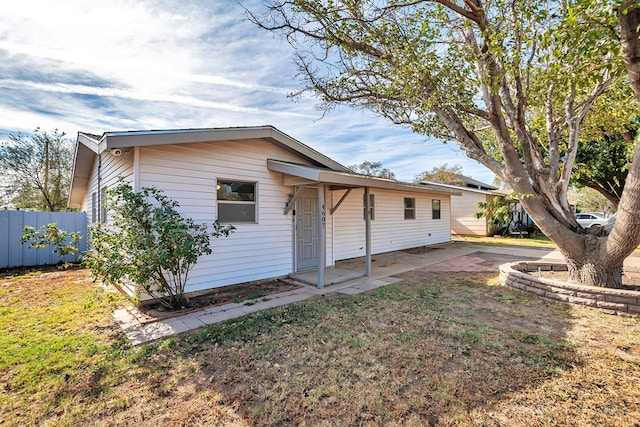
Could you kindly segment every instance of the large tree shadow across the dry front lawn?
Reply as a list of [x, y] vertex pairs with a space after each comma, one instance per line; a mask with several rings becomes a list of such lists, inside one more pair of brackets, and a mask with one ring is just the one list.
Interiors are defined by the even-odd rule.
[[[535, 408], [490, 414], [580, 368], [565, 306], [487, 285], [495, 274], [403, 277], [165, 340], [154, 359], [190, 366], [173, 377], [194, 393], [189, 413], [207, 413], [196, 396], [213, 393], [250, 425], [526, 425]], [[170, 395], [184, 416], [184, 396]]]

